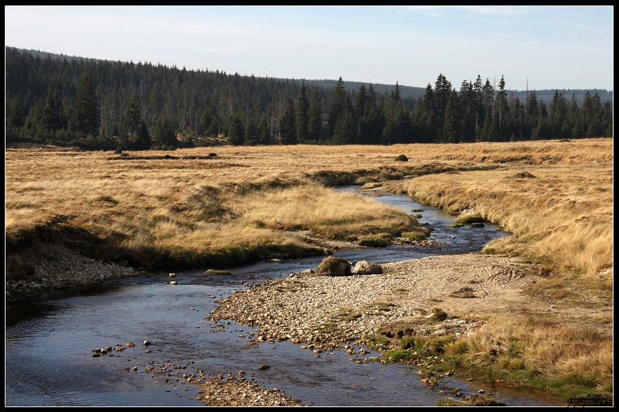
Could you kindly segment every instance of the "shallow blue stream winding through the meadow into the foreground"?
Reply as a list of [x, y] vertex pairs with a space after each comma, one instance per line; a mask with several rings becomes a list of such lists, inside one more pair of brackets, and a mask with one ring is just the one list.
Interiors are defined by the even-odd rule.
[[[358, 186], [340, 187], [354, 192]], [[490, 240], [506, 236], [495, 225], [450, 228], [454, 217], [415, 203], [404, 195], [383, 194], [376, 201], [421, 214], [420, 223], [435, 231], [440, 246], [392, 245], [336, 251], [350, 262], [376, 263], [423, 258], [428, 255], [480, 251]], [[452, 239], [451, 236], [455, 238]], [[184, 406], [200, 407], [195, 385], [165, 385], [161, 376], [144, 373], [149, 363], [175, 363], [187, 373], [207, 376], [243, 370], [254, 373], [262, 387], [281, 389], [287, 396], [314, 406], [434, 406], [448, 395], [428, 389], [407, 365], [357, 364], [345, 351], [317, 358], [289, 341], [246, 345], [239, 334], [255, 332], [230, 321], [226, 332], [214, 332], [203, 320], [215, 300], [243, 283], [280, 279], [288, 273], [316, 268], [324, 257], [258, 262], [231, 268], [233, 276], [204, 275], [204, 269], [177, 273], [178, 285], [164, 284], [166, 274], [120, 279], [72, 291], [58, 299], [6, 309], [5, 405], [25, 406]], [[153, 344], [144, 351], [142, 341]], [[91, 350], [124, 346], [98, 358]], [[376, 356], [376, 354], [373, 354]], [[259, 365], [270, 369], [259, 370]], [[136, 367], [133, 371], [133, 367]], [[125, 370], [129, 368], [129, 370]], [[484, 389], [508, 406], [565, 406], [565, 402], [501, 385], [446, 378], [470, 394]]]

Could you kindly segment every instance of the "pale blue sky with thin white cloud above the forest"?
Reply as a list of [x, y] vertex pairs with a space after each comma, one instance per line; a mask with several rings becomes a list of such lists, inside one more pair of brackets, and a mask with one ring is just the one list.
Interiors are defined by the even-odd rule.
[[5, 45], [275, 78], [613, 90], [613, 8], [5, 7]]

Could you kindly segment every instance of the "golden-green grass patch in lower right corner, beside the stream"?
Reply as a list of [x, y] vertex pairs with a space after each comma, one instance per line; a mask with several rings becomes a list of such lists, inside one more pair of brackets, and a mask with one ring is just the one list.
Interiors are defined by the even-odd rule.
[[493, 369], [511, 382], [554, 388], [565, 397], [612, 393], [612, 337], [593, 328], [543, 317], [493, 317], [446, 353], [470, 367]]

